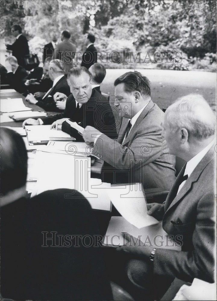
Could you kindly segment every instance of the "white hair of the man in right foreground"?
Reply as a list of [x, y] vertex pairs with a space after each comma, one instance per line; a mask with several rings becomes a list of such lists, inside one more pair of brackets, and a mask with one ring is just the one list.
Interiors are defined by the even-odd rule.
[[189, 94], [175, 101], [166, 110], [165, 120], [172, 130], [185, 128], [200, 140], [215, 134], [215, 114], [199, 94]]

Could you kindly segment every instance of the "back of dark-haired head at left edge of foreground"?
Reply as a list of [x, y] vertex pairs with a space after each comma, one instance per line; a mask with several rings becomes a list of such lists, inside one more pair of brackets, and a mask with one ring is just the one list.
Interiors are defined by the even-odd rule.
[[22, 137], [11, 129], [1, 128], [1, 194], [6, 195], [26, 184], [27, 151]]

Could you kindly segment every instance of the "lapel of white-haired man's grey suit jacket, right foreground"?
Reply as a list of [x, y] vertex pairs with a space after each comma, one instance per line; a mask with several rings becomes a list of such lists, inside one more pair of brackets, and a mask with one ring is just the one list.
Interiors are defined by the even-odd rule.
[[182, 168], [181, 172], [179, 173], [179, 175], [175, 181], [175, 184], [174, 184], [173, 188], [171, 189], [171, 192], [168, 194], [168, 197], [165, 202], [165, 210], [166, 210], [165, 214], [168, 212], [168, 210], [170, 210], [173, 206], [175, 206], [179, 201], [181, 201], [181, 199], [183, 199], [185, 194], [187, 194], [188, 191], [191, 189], [193, 182], [197, 182], [200, 174], [203, 172], [203, 169], [213, 159], [213, 157], [214, 157], [214, 145], [211, 147], [211, 149], [208, 151], [208, 153], [203, 157], [203, 159], [200, 161], [200, 163], [198, 163], [198, 165], [195, 167], [192, 174], [187, 179], [184, 186], [181, 188], [181, 190], [179, 191], [177, 196], [174, 198], [174, 200], [171, 200], [172, 190], [175, 189], [175, 185], [178, 182], [178, 178], [181, 176], [181, 173], [184, 174], [184, 172], [182, 172], [182, 171], [183, 171], [183, 169], [185, 169], [185, 166], [187, 163], [185, 164], [185, 166]]

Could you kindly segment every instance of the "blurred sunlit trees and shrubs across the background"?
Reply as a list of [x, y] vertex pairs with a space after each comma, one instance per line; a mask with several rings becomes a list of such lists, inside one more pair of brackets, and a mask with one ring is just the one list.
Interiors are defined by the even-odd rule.
[[[67, 29], [77, 51], [85, 50], [84, 34], [93, 33], [109, 68], [216, 71], [215, 0], [1, 0], [0, 17], [1, 37], [13, 41], [11, 26], [20, 24], [39, 57], [51, 31]], [[114, 51], [121, 53], [110, 57]], [[147, 59], [131, 62], [129, 51]], [[167, 51], [181, 52], [182, 61], [175, 54], [170, 64], [148, 59]]]

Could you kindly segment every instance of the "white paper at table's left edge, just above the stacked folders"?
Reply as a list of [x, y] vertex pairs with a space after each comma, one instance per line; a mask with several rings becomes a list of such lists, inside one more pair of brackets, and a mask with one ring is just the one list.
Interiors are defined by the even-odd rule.
[[18, 112], [18, 111], [31, 111], [31, 108], [28, 108], [23, 103], [22, 98], [7, 98], [1, 99], [1, 112]]

